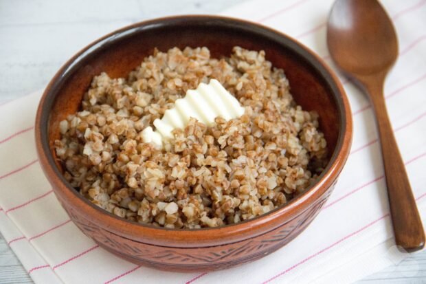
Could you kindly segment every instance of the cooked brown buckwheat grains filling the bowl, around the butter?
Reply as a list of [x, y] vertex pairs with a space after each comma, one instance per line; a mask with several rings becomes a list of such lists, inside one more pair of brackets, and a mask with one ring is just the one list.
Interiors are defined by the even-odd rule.
[[[190, 118], [164, 146], [144, 142], [144, 129], [210, 79], [236, 97], [242, 116], [210, 125]], [[81, 195], [119, 217], [166, 228], [265, 214], [302, 193], [328, 161], [317, 114], [296, 105], [284, 71], [265, 52], [240, 47], [221, 59], [206, 47], [156, 50], [127, 78], [95, 76], [80, 111], [59, 130], [57, 157]]]

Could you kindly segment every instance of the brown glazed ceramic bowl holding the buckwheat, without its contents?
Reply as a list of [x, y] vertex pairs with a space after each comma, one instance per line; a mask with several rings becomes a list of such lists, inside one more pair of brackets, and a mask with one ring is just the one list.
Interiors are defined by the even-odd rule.
[[[320, 114], [330, 162], [316, 184], [287, 205], [249, 221], [220, 228], [172, 230], [111, 215], [82, 197], [64, 179], [53, 142], [58, 122], [78, 110], [93, 76], [124, 77], [155, 47], [207, 46], [212, 56], [229, 56], [232, 47], [265, 50], [285, 70], [291, 92], [305, 110]], [[72, 221], [102, 248], [133, 263], [180, 272], [218, 270], [253, 261], [294, 239], [320, 211], [348, 157], [352, 120], [339, 81], [306, 47], [256, 23], [211, 16], [145, 21], [104, 36], [78, 52], [58, 71], [41, 98], [36, 144], [43, 171]]]

